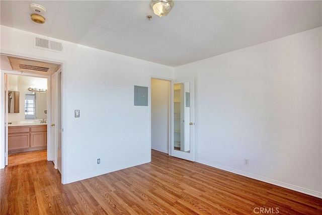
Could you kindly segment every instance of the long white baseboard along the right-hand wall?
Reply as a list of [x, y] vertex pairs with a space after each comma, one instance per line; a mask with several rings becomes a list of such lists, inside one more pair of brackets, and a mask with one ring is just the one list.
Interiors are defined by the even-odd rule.
[[297, 192], [300, 192], [300, 193], [311, 195], [311, 196], [314, 196], [314, 197], [317, 197], [317, 198], [322, 198], [322, 192], [317, 192], [317, 191], [314, 191], [314, 190], [310, 190], [310, 189], [295, 186], [295, 185], [292, 185], [292, 184], [284, 183], [284, 182], [277, 181], [277, 180], [274, 180], [274, 179], [265, 178], [265, 177], [262, 177], [262, 176], [259, 176], [259, 175], [254, 175], [254, 174], [251, 174], [251, 173], [236, 170], [236, 169], [226, 167], [226, 166], [221, 166], [221, 165], [214, 164], [214, 163], [207, 162], [207, 161], [203, 161], [203, 160], [200, 160], [200, 159], [196, 159], [196, 162], [198, 162], [200, 164], [210, 166], [210, 167], [214, 167], [214, 168], [217, 168], [217, 169], [220, 169], [220, 170], [224, 170], [224, 171], [227, 171], [227, 172], [235, 173], [237, 175], [245, 176], [245, 177], [248, 177], [248, 178], [256, 179], [256, 180], [263, 181], [263, 182], [266, 182], [266, 183], [269, 183], [269, 184], [273, 184], [273, 185], [276, 185], [276, 186], [280, 186], [280, 187], [284, 187], [284, 188], [287, 188], [287, 189], [290, 189], [290, 190], [294, 190], [294, 191], [297, 191]]

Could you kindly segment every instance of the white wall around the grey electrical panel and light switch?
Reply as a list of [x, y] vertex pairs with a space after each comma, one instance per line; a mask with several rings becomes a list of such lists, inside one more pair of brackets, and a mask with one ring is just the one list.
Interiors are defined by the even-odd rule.
[[150, 104], [134, 106], [134, 85], [150, 89], [151, 76], [172, 79], [174, 69], [65, 41], [64, 53], [36, 49], [33, 36], [1, 26], [1, 52], [64, 62], [63, 182], [149, 162]]

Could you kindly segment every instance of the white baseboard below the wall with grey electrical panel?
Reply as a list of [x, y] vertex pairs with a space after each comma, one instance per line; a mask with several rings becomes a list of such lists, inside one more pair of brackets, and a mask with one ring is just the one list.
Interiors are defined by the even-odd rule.
[[117, 166], [117, 167], [113, 167], [113, 168], [109, 168], [109, 169], [104, 169], [104, 170], [97, 171], [97, 172], [92, 172], [92, 173], [89, 173], [89, 174], [79, 175], [77, 177], [67, 179], [66, 183], [64, 183], [64, 184], [69, 184], [69, 183], [72, 183], [72, 182], [75, 182], [75, 181], [81, 181], [81, 180], [84, 180], [84, 179], [93, 178], [93, 177], [96, 177], [96, 176], [99, 176], [99, 175], [104, 175], [104, 174], [107, 174], [107, 173], [115, 172], [115, 171], [118, 171], [118, 170], [123, 170], [123, 169], [126, 169], [126, 168], [138, 166], [138, 165], [141, 165], [141, 164], [146, 164], [146, 163], [149, 163], [149, 162], [151, 162], [151, 160], [147, 159], [147, 160], [143, 160], [143, 161], [140, 161], [140, 162], [125, 164], [125, 165], [121, 165], [121, 166]]

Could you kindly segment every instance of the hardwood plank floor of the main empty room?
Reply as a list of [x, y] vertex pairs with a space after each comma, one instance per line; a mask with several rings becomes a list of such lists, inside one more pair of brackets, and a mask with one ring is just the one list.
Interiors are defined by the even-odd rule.
[[322, 199], [153, 150], [151, 163], [66, 185], [47, 161], [0, 174], [1, 214], [322, 214]]

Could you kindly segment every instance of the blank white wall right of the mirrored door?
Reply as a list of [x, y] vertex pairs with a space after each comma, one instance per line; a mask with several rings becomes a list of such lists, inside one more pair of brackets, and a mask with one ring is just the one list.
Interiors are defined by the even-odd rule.
[[321, 28], [175, 68], [190, 76], [198, 162], [322, 197]]

